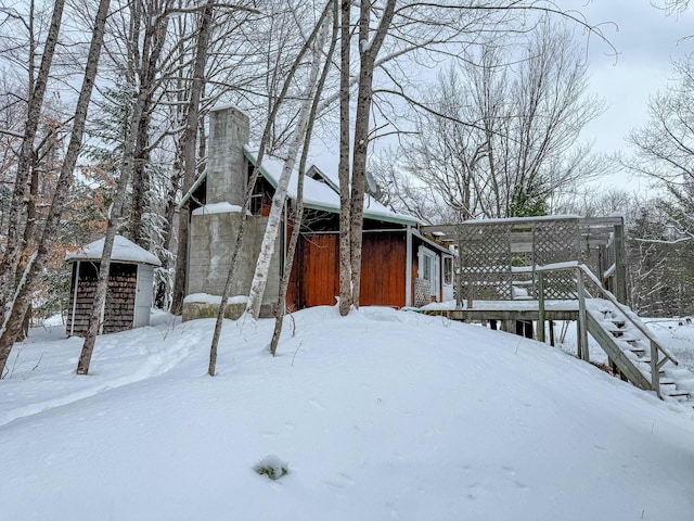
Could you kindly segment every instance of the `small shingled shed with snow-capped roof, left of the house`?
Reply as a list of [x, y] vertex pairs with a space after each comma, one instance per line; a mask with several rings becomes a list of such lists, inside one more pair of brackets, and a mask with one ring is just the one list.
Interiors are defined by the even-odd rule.
[[[66, 327], [68, 336], [81, 336], [87, 332], [103, 247], [104, 240], [100, 239], [67, 254], [66, 259], [73, 263]], [[100, 333], [115, 333], [150, 325], [154, 268], [160, 265], [155, 255], [134, 242], [125, 237], [115, 237]]]

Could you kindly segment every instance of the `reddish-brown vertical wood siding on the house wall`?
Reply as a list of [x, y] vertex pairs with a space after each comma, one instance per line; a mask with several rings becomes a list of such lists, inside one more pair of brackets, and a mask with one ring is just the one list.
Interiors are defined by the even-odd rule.
[[[301, 236], [287, 292], [290, 308], [335, 304], [339, 295], [338, 241], [337, 233]], [[360, 304], [403, 306], [404, 232], [367, 232], [362, 247]]]

